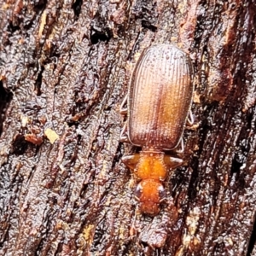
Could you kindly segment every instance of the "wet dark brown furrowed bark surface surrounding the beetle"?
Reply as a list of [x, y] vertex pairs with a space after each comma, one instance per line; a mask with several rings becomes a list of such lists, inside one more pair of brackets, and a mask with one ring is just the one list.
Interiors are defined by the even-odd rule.
[[[256, 6], [0, 1], [0, 255], [253, 255]], [[186, 165], [137, 211], [119, 105], [145, 47], [195, 68]]]

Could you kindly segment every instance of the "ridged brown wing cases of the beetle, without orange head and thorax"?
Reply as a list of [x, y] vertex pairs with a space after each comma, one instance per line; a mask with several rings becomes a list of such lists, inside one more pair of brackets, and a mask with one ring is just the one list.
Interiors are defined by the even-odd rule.
[[177, 146], [191, 105], [191, 67], [189, 57], [172, 44], [144, 49], [129, 90], [131, 143], [159, 149]]

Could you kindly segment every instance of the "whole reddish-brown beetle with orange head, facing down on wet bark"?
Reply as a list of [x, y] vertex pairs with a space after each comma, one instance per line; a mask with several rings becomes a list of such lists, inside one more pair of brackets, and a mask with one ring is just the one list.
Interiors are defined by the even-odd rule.
[[165, 197], [162, 182], [168, 170], [183, 164], [182, 159], [166, 155], [164, 150], [183, 144], [193, 93], [191, 76], [191, 62], [181, 49], [171, 44], [144, 49], [121, 106], [121, 113], [128, 113], [121, 140], [142, 147], [139, 154], [122, 160], [140, 180], [136, 196], [141, 212], [150, 215], [160, 211]]

